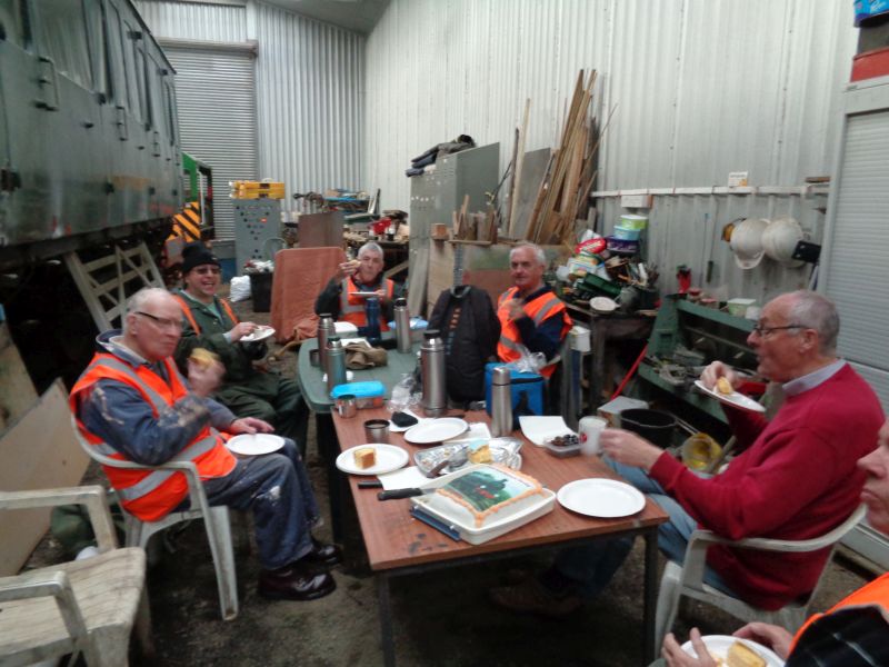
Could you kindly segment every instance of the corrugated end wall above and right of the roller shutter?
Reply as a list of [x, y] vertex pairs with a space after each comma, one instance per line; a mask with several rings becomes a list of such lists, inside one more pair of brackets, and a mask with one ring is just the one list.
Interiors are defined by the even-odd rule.
[[259, 178], [286, 183], [284, 209], [293, 192], [364, 187], [362, 36], [261, 2], [136, 4], [156, 37], [256, 40]]

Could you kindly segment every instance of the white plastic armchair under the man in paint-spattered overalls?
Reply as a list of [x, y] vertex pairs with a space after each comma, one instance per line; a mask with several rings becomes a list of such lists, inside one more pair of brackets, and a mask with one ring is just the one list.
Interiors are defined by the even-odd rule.
[[[73, 421], [73, 417], [71, 418]], [[188, 481], [189, 509], [171, 511], [158, 521], [142, 521], [123, 509], [128, 547], [146, 548], [152, 535], [181, 521], [203, 519], [210, 551], [213, 556], [216, 579], [219, 587], [219, 606], [223, 620], [232, 620], [238, 616], [238, 580], [234, 570], [234, 550], [231, 544], [231, 522], [229, 508], [210, 507], [207, 492], [203, 490], [198, 467], [191, 461], [168, 461], [160, 466], [142, 466], [132, 461], [121, 461], [100, 454], [96, 447], [87, 442], [73, 424], [78, 441], [91, 459], [103, 466], [129, 470], [176, 470], [182, 472]], [[121, 508], [122, 509], [122, 508]]]

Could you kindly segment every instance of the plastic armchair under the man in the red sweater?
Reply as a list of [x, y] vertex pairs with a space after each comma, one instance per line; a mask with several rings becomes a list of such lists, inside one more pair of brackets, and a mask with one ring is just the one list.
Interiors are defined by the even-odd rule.
[[[691, 539], [686, 548], [685, 566], [673, 561], [667, 563], [663, 576], [660, 580], [660, 591], [658, 593], [658, 608], [655, 620], [657, 646], [663, 643], [663, 637], [672, 628], [676, 614], [679, 609], [679, 600], [682, 597], [690, 597], [713, 605], [728, 611], [736, 618], [745, 621], [761, 620], [780, 625], [789, 631], [799, 629], [809, 616], [809, 605], [818, 593], [823, 579], [827, 565], [833, 556], [837, 542], [849, 532], [858, 521], [865, 516], [867, 507], [861, 505], [842, 524], [831, 531], [812, 539], [798, 541], [782, 539], [767, 539], [752, 537], [739, 540], [729, 540], [718, 537], [710, 530], [696, 530], [691, 534]], [[803, 599], [792, 601], [775, 611], [767, 611], [748, 605], [743, 600], [726, 595], [703, 583], [705, 561], [707, 549], [712, 545], [729, 545], [748, 549], [760, 549], [765, 551], [817, 551], [825, 547], [832, 547], [830, 555], [825, 561], [825, 568], [818, 578], [812, 591]]]

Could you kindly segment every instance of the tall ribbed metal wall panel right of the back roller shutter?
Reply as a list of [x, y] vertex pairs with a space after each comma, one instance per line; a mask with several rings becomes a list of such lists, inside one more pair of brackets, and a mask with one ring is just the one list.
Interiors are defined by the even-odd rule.
[[364, 38], [256, 4], [260, 175], [294, 192], [367, 189], [361, 171]]

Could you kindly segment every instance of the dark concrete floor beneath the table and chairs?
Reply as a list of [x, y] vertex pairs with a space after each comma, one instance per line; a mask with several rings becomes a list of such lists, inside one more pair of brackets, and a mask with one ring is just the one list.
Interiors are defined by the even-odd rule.
[[[236, 305], [242, 318], [268, 321], [251, 313], [250, 302]], [[288, 354], [282, 370], [292, 374], [296, 356]], [[327, 509], [327, 480], [317, 455], [313, 429], [308, 466], [316, 492]], [[96, 468], [88, 479], [102, 480]], [[200, 524], [169, 539], [157, 540], [148, 576], [157, 655], [133, 656], [137, 665], [239, 665], [304, 667], [377, 667], [382, 665], [373, 577], [356, 554], [357, 565], [336, 568], [338, 589], [311, 603], [269, 601], [256, 594], [258, 563], [251, 548], [249, 519], [236, 525], [240, 614], [232, 621], [219, 616], [216, 577]], [[329, 538], [324, 529], [319, 537]], [[360, 536], [350, 536], [360, 545]], [[485, 566], [446, 569], [392, 584], [398, 664], [408, 667], [453, 666], [585, 666], [642, 664], [642, 542], [595, 604], [565, 620], [513, 616], [493, 607], [487, 590], [505, 581], [510, 569], [537, 568], [545, 560], [501, 560]], [[353, 551], [354, 554], [354, 551]], [[33, 564], [59, 558], [58, 545], [47, 539]], [[863, 584], [870, 575], [835, 559], [826, 586], [815, 603], [821, 610]], [[685, 638], [696, 625], [705, 634], [730, 634], [739, 621], [715, 609], [688, 605], [677, 621]]]

